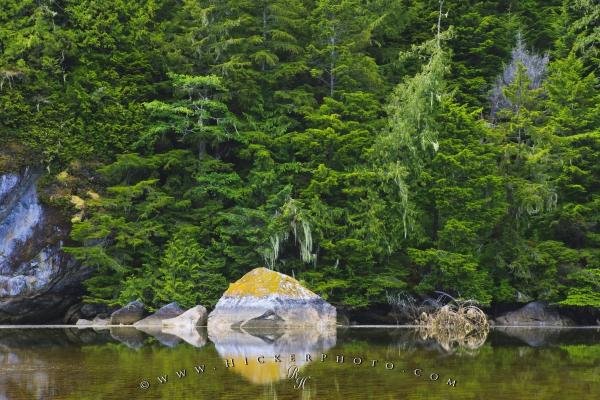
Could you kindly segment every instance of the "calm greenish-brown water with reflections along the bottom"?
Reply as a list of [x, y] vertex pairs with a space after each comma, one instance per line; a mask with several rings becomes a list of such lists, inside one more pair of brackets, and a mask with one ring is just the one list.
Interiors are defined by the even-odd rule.
[[600, 398], [600, 329], [460, 346], [408, 328], [183, 336], [0, 329], [0, 400]]

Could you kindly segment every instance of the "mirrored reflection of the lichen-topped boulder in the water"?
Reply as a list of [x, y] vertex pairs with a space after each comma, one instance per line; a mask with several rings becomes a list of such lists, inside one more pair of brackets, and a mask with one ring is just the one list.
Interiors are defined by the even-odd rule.
[[249, 330], [218, 327], [211, 331], [209, 326], [208, 336], [223, 362], [255, 384], [285, 379], [290, 366], [302, 367], [311, 360], [316, 361], [321, 353], [336, 344], [334, 326], [321, 331], [283, 327]]

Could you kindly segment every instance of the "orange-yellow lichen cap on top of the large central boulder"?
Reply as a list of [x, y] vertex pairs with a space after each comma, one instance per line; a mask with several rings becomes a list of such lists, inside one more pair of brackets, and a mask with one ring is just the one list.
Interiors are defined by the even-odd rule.
[[229, 285], [225, 296], [266, 297], [281, 295], [292, 298], [316, 298], [315, 293], [303, 287], [296, 279], [267, 268], [255, 268]]

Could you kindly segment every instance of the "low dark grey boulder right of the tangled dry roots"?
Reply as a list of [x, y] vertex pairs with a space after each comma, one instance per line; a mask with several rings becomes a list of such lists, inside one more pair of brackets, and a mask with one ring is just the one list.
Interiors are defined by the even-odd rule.
[[573, 321], [552, 310], [541, 301], [526, 304], [496, 318], [495, 325], [510, 326], [571, 326]]

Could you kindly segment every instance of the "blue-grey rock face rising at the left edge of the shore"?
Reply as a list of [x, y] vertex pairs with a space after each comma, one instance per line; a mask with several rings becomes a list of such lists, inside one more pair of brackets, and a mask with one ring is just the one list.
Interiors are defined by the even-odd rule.
[[0, 323], [59, 319], [91, 273], [62, 252], [68, 226], [40, 203], [39, 176], [31, 169], [0, 174]]

